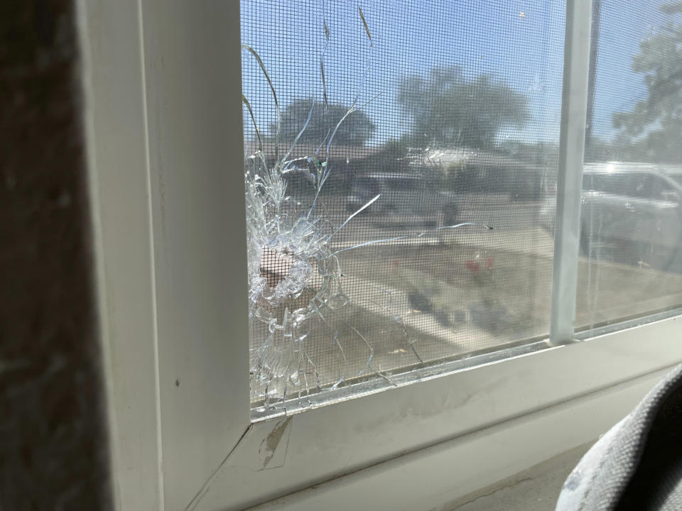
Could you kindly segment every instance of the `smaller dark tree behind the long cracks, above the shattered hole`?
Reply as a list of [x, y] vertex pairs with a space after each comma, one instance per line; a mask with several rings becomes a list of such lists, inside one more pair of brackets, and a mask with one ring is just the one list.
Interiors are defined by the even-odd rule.
[[[297, 99], [289, 104], [281, 114], [280, 137], [283, 141], [291, 142], [305, 126], [305, 121], [310, 115], [312, 99]], [[339, 121], [347, 114], [348, 107], [341, 104], [328, 104], [325, 109], [323, 103], [315, 103], [310, 123], [305, 128], [301, 143], [323, 143], [325, 138], [331, 136]], [[353, 111], [339, 126], [334, 137], [335, 145], [364, 145], [372, 137], [376, 126], [369, 120], [367, 114], [361, 110]], [[276, 123], [270, 126], [272, 136], [277, 131]]]

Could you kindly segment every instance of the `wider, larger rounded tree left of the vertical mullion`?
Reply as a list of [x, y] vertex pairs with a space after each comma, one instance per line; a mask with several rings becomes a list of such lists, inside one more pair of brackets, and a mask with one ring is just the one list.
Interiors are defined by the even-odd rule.
[[412, 116], [418, 145], [491, 149], [499, 128], [521, 128], [528, 118], [524, 94], [490, 75], [465, 77], [457, 66], [434, 67], [426, 79], [404, 77], [398, 101]]

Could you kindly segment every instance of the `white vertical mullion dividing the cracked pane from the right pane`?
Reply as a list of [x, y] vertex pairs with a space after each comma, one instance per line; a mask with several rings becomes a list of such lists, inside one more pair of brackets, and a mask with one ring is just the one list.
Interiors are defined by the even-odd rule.
[[591, 22], [592, 0], [568, 0], [549, 334], [552, 344], [573, 341]]

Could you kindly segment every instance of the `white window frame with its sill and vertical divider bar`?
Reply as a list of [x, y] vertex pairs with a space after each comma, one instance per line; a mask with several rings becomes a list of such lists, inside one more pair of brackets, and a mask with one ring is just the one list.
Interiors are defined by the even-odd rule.
[[595, 439], [682, 361], [679, 312], [573, 339], [590, 4], [567, 8], [551, 340], [254, 422], [239, 1], [79, 0], [118, 509], [445, 510]]

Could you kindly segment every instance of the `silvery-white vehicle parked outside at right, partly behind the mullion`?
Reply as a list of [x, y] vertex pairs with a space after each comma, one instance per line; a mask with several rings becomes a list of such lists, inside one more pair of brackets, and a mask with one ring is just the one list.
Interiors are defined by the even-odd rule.
[[[682, 248], [682, 167], [585, 164], [580, 252], [616, 262], [668, 269]], [[556, 195], [541, 224], [553, 232]]]

